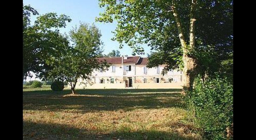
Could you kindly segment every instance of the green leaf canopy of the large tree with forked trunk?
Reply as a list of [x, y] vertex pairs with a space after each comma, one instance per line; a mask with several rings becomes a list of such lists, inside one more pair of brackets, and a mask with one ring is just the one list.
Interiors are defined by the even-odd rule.
[[[117, 21], [112, 40], [127, 44], [133, 52], [143, 54], [141, 44], [147, 44], [152, 53], [148, 67], [166, 64], [164, 71], [183, 68], [183, 51], [171, 9], [174, 0], [116, 1], [99, 0], [105, 12], [96, 18], [99, 22]], [[183, 36], [189, 44], [191, 0], [177, 1]], [[195, 50], [189, 51], [198, 60], [202, 73], [221, 69], [220, 63], [233, 52], [233, 0], [197, 1], [195, 14]], [[230, 70], [230, 69], [229, 69]]]

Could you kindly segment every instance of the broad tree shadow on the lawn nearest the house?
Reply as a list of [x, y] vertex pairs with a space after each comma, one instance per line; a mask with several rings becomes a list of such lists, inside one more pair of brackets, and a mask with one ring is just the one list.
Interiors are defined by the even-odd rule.
[[[169, 107], [183, 107], [180, 93], [173, 89], [139, 89], [128, 90], [81, 90], [85, 96], [67, 96], [63, 93], [23, 92], [23, 110], [63, 110], [72, 109], [79, 112], [93, 112], [102, 110], [125, 111], [133, 109], [159, 109]], [[64, 92], [64, 94], [66, 94]]]

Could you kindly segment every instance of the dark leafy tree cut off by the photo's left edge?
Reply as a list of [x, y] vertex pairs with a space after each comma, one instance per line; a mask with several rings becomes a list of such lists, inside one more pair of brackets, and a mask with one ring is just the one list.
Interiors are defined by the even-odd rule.
[[49, 68], [47, 59], [58, 57], [60, 52], [65, 51], [68, 40], [59, 33], [59, 28], [71, 21], [66, 15], [46, 13], [38, 16], [31, 25], [31, 13], [38, 15], [30, 5], [23, 5], [23, 77], [29, 75], [30, 71], [36, 74], [44, 72]]

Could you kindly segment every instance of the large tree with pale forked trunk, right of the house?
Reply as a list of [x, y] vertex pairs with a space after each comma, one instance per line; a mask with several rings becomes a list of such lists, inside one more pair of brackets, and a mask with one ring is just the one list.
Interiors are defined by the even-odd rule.
[[120, 47], [126, 43], [141, 54], [141, 44], [148, 44], [158, 52], [153, 54], [158, 64], [168, 64], [166, 70], [183, 70], [183, 93], [206, 69], [200, 61], [205, 52], [214, 49], [225, 58], [233, 51], [233, 0], [99, 0], [99, 5], [105, 12], [96, 20], [117, 21], [113, 40]]

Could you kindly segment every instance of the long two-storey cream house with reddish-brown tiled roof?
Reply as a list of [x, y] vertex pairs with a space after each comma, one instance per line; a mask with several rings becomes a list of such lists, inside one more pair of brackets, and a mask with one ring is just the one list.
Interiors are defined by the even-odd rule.
[[[164, 65], [147, 68], [148, 58], [122, 56], [98, 58], [111, 66], [107, 71], [94, 71], [89, 81], [78, 80], [77, 89], [169, 89], [182, 88], [182, 71], [162, 75]], [[84, 84], [86, 83], [86, 84]]]

